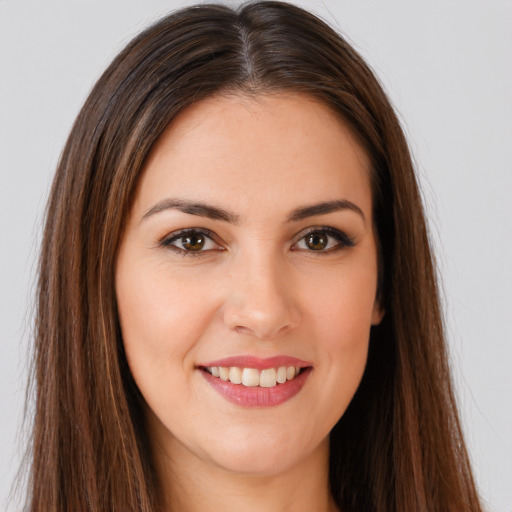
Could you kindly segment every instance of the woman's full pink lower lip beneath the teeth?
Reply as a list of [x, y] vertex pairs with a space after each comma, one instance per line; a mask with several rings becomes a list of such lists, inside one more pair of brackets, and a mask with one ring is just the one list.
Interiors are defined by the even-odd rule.
[[204, 370], [200, 371], [215, 391], [236, 405], [243, 407], [273, 407], [290, 400], [302, 389], [311, 373], [311, 368], [302, 371], [292, 380], [287, 380], [283, 384], [276, 384], [271, 388], [233, 384], [214, 377]]

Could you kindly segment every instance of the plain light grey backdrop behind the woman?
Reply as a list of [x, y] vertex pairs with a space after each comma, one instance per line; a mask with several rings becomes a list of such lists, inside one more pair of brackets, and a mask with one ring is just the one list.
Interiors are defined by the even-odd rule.
[[[110, 60], [189, 3], [0, 0], [0, 510], [26, 444], [34, 268], [57, 159]], [[353, 43], [403, 121], [437, 249], [477, 482], [490, 511], [510, 512], [512, 2], [296, 3]]]

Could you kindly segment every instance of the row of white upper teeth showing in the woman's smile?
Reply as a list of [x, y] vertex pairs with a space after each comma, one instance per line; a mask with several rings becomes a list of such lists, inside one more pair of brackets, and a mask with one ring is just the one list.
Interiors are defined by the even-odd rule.
[[201, 370], [224, 382], [246, 387], [272, 388], [295, 379], [307, 368], [299, 366], [278, 366], [258, 370], [238, 366], [203, 366]]

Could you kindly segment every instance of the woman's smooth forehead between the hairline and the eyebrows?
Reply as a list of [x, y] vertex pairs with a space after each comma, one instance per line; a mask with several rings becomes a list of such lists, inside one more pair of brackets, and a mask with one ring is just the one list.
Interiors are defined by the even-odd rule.
[[283, 93], [216, 96], [186, 109], [161, 135], [136, 202], [184, 195], [243, 213], [248, 201], [284, 210], [343, 196], [371, 210], [369, 176], [365, 151], [319, 101]]

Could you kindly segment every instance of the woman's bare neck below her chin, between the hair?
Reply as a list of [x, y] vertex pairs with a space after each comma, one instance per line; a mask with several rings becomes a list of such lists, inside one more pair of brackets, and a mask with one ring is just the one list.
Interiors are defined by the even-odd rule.
[[[187, 457], [186, 452], [187, 448], [174, 445], [172, 458], [161, 450], [155, 453], [166, 512], [337, 510], [329, 490], [328, 440], [278, 474], [233, 472], [211, 461]], [[184, 459], [188, 459], [185, 464]], [[179, 466], [173, 463], [176, 460], [180, 461]]]

